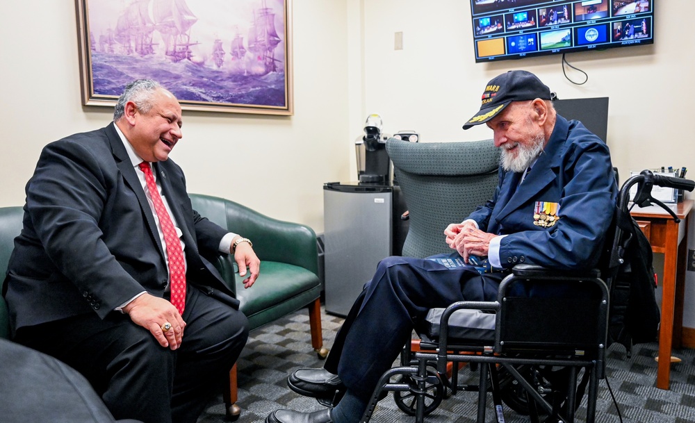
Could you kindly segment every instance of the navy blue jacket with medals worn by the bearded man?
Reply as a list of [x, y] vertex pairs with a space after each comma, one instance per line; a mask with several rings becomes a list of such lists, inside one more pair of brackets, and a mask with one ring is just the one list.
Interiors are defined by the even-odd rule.
[[[617, 197], [605, 142], [581, 122], [558, 115], [543, 153], [521, 185], [520, 179], [521, 174], [500, 167], [493, 199], [468, 217], [486, 232], [507, 235], [500, 243], [502, 267], [595, 266]], [[534, 225], [537, 201], [559, 206], [556, 224]]]

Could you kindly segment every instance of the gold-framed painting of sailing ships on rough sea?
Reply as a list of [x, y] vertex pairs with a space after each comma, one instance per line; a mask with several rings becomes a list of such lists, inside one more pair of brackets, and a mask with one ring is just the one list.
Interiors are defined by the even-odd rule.
[[291, 115], [291, 0], [76, 0], [83, 104], [153, 78], [184, 110]]

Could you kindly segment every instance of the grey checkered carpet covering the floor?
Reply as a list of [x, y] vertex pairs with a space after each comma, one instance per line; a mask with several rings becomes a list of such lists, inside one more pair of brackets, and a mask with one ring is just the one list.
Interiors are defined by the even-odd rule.
[[[343, 320], [326, 315], [322, 310], [324, 345], [330, 347]], [[644, 344], [626, 358], [621, 347], [609, 349], [607, 376], [624, 423], [686, 423], [695, 422], [695, 350], [682, 349], [673, 355], [682, 358], [671, 369], [671, 390], [655, 388], [658, 345]], [[251, 333], [251, 338], [238, 362], [238, 405], [242, 408], [239, 423], [263, 422], [277, 408], [318, 410], [315, 399], [295, 394], [286, 385], [287, 375], [298, 367], [320, 367], [322, 360], [311, 350], [309, 315], [300, 310], [275, 324]], [[620, 422], [605, 381], [600, 381], [598, 423]], [[442, 401], [439, 408], [425, 417], [425, 423], [475, 422], [477, 393], [459, 392]], [[491, 401], [489, 401], [491, 402]], [[585, 406], [578, 412], [584, 422]], [[529, 422], [526, 416], [505, 408], [507, 423]], [[389, 395], [379, 402], [371, 422], [414, 422], [415, 417], [403, 413]], [[488, 408], [487, 421], [493, 422]], [[211, 400], [198, 423], [224, 422], [222, 397]]]

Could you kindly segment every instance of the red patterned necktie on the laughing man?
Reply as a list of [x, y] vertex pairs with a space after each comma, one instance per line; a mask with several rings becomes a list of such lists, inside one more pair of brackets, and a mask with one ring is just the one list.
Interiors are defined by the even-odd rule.
[[159, 190], [157, 190], [157, 184], [154, 182], [154, 175], [152, 175], [152, 167], [149, 167], [149, 163], [142, 162], [140, 163], [140, 170], [145, 174], [147, 190], [149, 190], [149, 196], [152, 197], [154, 210], [157, 213], [157, 217], [159, 217], [159, 224], [161, 224], [162, 232], [164, 233], [164, 242], [169, 256], [171, 302], [179, 310], [179, 313], [183, 315], [183, 308], [186, 306], [186, 265], [183, 263], [181, 241], [179, 241], [176, 228], [174, 228], [169, 212], [164, 207], [162, 197], [160, 197]]

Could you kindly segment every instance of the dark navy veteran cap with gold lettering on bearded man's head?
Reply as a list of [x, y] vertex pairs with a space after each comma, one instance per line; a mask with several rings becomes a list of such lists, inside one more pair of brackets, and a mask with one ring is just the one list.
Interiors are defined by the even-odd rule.
[[482, 93], [482, 104], [464, 129], [484, 124], [505, 110], [512, 101], [550, 100], [550, 88], [531, 72], [515, 70], [495, 76]]

